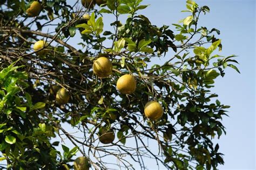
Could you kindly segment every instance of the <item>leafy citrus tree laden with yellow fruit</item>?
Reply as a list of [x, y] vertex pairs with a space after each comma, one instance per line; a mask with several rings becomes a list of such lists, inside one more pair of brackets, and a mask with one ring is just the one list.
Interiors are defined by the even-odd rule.
[[160, 27], [145, 8], [142, 0], [1, 1], [2, 168], [224, 164], [211, 140], [225, 133], [229, 106], [211, 88], [226, 67], [239, 72], [235, 56], [218, 55], [220, 31], [200, 25], [208, 6], [188, 0], [186, 18]]

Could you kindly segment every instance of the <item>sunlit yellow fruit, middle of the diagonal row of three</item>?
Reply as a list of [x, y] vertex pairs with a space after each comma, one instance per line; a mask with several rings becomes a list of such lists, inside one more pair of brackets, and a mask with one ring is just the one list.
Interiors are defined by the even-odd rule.
[[122, 94], [132, 94], [136, 90], [136, 80], [130, 74], [125, 74], [117, 80], [117, 90]]

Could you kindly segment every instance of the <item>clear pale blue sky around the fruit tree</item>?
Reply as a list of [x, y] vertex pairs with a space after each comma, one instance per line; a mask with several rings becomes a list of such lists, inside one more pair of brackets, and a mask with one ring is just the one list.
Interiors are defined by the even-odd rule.
[[[219, 169], [255, 169], [255, 1], [196, 2], [211, 9], [199, 19], [199, 25], [220, 30], [223, 51], [219, 54], [238, 55], [240, 63], [241, 74], [226, 69], [225, 77], [219, 77], [213, 89], [219, 94], [221, 103], [231, 106], [228, 110], [230, 117], [223, 119], [227, 135], [214, 140], [220, 145], [219, 151], [225, 154], [225, 165], [219, 166]], [[180, 12], [185, 9], [185, 0], [144, 0], [143, 3], [151, 5], [140, 13], [149, 17], [154, 25], [171, 25], [188, 15]], [[111, 19], [103, 18], [106, 29]], [[174, 30], [174, 27], [171, 28]], [[77, 38], [73, 40], [72, 44], [77, 44]], [[160, 60], [159, 64], [163, 61]], [[156, 164], [147, 163], [150, 169], [157, 168]]]

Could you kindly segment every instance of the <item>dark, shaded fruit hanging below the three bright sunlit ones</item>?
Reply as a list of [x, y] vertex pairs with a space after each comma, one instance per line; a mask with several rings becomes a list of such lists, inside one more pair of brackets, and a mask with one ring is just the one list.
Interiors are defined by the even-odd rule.
[[110, 144], [114, 141], [114, 132], [106, 127], [99, 128], [99, 141], [103, 144]]

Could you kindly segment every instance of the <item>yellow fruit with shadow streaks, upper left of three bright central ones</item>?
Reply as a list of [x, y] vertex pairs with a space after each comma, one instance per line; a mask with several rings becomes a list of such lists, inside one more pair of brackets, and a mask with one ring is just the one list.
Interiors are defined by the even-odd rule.
[[93, 63], [93, 73], [100, 78], [109, 77], [112, 74], [112, 63], [106, 57], [99, 57]]

